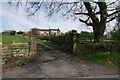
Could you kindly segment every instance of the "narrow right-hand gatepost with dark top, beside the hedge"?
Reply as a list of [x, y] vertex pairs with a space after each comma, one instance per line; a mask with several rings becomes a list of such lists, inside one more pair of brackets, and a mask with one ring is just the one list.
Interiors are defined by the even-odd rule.
[[77, 42], [78, 42], [78, 33], [76, 30], [73, 30], [71, 33], [71, 52], [75, 53], [76, 47], [77, 47]]

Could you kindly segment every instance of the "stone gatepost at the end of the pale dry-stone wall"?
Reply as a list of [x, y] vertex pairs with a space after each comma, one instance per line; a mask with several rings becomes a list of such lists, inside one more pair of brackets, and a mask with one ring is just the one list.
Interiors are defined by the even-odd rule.
[[35, 36], [29, 37], [29, 55], [30, 57], [35, 56], [37, 54], [37, 42]]

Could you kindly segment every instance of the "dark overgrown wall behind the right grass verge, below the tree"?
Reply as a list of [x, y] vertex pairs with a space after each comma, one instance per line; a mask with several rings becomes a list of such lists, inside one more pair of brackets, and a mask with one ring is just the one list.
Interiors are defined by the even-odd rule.
[[119, 52], [120, 44], [104, 43], [104, 44], [78, 44], [76, 52], [82, 54], [96, 53], [96, 52]]

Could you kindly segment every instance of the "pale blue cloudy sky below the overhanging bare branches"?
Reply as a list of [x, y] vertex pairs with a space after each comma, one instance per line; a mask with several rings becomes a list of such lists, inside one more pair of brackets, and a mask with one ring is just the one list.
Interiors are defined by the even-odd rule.
[[10, 6], [6, 2], [0, 3], [0, 27], [3, 30], [16, 30], [16, 31], [29, 31], [31, 28], [49, 29], [59, 28], [61, 32], [67, 32], [72, 29], [81, 31], [89, 31], [92, 29], [84, 26], [79, 20], [72, 20], [60, 17], [59, 14], [53, 15], [53, 17], [46, 17], [46, 12], [40, 10], [36, 16], [29, 17], [25, 12], [24, 6], [20, 7], [19, 10], [15, 6]]

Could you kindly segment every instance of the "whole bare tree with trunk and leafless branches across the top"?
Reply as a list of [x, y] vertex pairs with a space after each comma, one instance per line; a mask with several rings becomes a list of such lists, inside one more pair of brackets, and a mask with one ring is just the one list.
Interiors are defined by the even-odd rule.
[[[17, 3], [17, 5], [19, 5]], [[54, 16], [58, 12], [62, 12], [63, 16], [68, 18], [73, 17], [79, 19], [80, 22], [91, 26], [94, 33], [94, 42], [101, 43], [106, 29], [106, 24], [118, 17], [117, 9], [118, 1], [114, 2], [65, 2], [64, 0], [58, 2], [26, 2], [26, 12], [28, 16], [35, 15], [37, 11], [42, 8], [48, 12], [48, 16]]]

